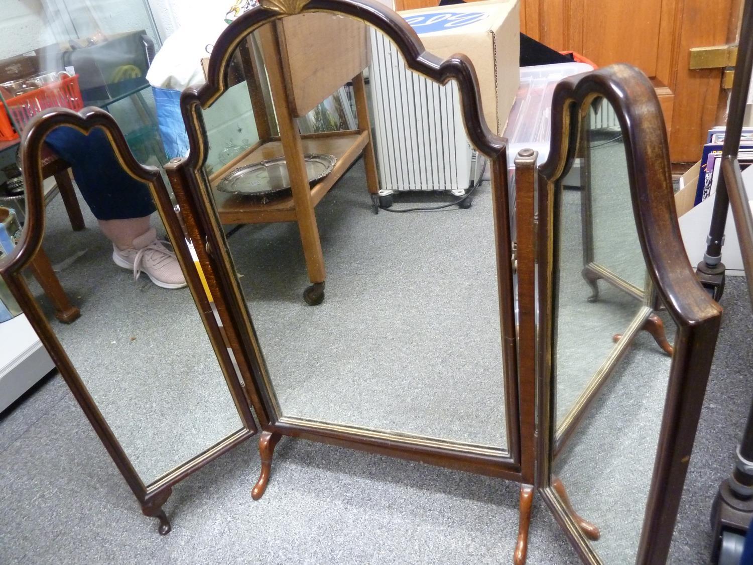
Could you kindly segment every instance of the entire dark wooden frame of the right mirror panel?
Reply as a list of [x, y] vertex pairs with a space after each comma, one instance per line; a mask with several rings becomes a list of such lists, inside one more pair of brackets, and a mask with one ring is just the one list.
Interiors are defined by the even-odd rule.
[[[566, 78], [554, 92], [549, 158], [538, 168], [538, 418], [536, 485], [585, 563], [602, 563], [584, 524], [556, 492], [553, 316], [557, 265], [553, 191], [575, 157], [581, 118], [597, 96], [614, 107], [625, 142], [633, 214], [648, 273], [677, 325], [675, 350], [636, 563], [665, 563], [716, 344], [721, 307], [698, 282], [680, 236], [666, 129], [651, 82], [614, 65]], [[535, 173], [531, 175], [536, 180]], [[527, 268], [531, 269], [531, 266]]]

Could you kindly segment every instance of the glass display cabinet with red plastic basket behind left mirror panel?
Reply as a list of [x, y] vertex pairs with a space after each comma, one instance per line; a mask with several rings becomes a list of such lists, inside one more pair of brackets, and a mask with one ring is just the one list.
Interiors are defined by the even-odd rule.
[[44, 108], [93, 105], [116, 116], [142, 162], [166, 160], [146, 79], [160, 49], [146, 2], [4, 0], [0, 9], [0, 151]]

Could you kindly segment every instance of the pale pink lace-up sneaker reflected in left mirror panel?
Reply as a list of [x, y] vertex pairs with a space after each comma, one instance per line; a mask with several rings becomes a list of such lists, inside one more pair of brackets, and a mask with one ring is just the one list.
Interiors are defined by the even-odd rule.
[[118, 267], [133, 270], [133, 279], [144, 271], [155, 285], [163, 289], [182, 289], [186, 281], [175, 253], [165, 247], [167, 241], [157, 240], [157, 231], [148, 232], [133, 240], [133, 249], [112, 246], [112, 260]]

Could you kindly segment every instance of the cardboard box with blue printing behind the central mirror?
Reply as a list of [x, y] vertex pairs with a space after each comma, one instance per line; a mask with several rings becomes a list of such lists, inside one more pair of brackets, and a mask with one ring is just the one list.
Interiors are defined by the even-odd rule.
[[487, 0], [399, 14], [430, 53], [442, 59], [456, 53], [468, 56], [476, 69], [486, 124], [501, 135], [520, 84], [518, 0]]

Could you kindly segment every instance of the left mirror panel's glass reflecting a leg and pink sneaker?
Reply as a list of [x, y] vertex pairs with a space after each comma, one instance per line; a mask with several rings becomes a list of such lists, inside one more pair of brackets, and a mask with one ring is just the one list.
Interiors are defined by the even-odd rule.
[[[99, 128], [58, 127], [46, 142], [58, 172], [44, 181], [46, 232], [29, 285], [149, 484], [243, 423], [148, 186], [121, 168]], [[67, 324], [43, 289], [57, 282], [81, 311]]]

